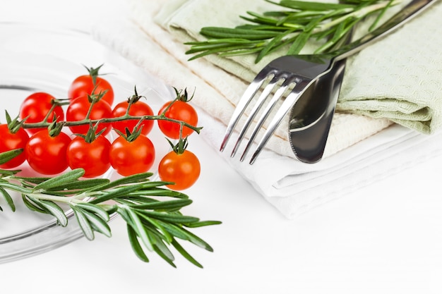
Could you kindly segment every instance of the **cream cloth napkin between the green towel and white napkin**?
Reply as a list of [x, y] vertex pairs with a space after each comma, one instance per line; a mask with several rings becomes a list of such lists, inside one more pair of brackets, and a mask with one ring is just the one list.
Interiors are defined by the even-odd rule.
[[[164, 51], [155, 53], [155, 55], [145, 51], [143, 58], [145, 59], [144, 62], [149, 60], [148, 63], [150, 65], [148, 71], [162, 78], [162, 80], [169, 85], [176, 87], [192, 87], [195, 85], [197, 94], [199, 93], [202, 97], [200, 99], [194, 99], [193, 103], [227, 124], [241, 94], [243, 94], [249, 84], [249, 82], [238, 78], [238, 75], [246, 75], [248, 71], [246, 68], [248, 65], [253, 66], [253, 61], [246, 63], [243, 67], [244, 72], [240, 71], [237, 75], [225, 71], [225, 68], [215, 65], [215, 63], [208, 61], [208, 59], [198, 59], [191, 62], [186, 61], [190, 56], [184, 53], [186, 47], [182, 44], [184, 40], [179, 37], [180, 30], [170, 32], [168, 29], [172, 30], [172, 27], [170, 25], [160, 24], [159, 20], [165, 19], [165, 21], [167, 21], [169, 19], [175, 19], [182, 13], [190, 16], [189, 25], [191, 24], [191, 19], [202, 18], [198, 20], [198, 23], [203, 23], [203, 20], [206, 20], [206, 13], [204, 13], [206, 9], [198, 10], [201, 5], [204, 7], [213, 6], [214, 11], [220, 13], [220, 15], [213, 17], [213, 19], [237, 19], [240, 11], [225, 13], [225, 9], [222, 7], [233, 6], [234, 8], [238, 8], [241, 6], [242, 11], [245, 11], [246, 7], [248, 7], [246, 4], [251, 4], [251, 8], [253, 8], [256, 7], [256, 3], [265, 4], [266, 2], [255, 0], [229, 0], [217, 1], [215, 4], [213, 1], [169, 0], [159, 2], [153, 0], [131, 0], [128, 1], [128, 3], [131, 5], [129, 11], [131, 11], [131, 18], [136, 23], [136, 26], [140, 27], [141, 30], [145, 32], [145, 35], [155, 43], [155, 47], [160, 47], [160, 50]], [[185, 8], [193, 8], [195, 10], [191, 9], [186, 12]], [[202, 24], [200, 26], [202, 26]], [[123, 34], [126, 35], [127, 32], [123, 32]], [[116, 34], [113, 34], [113, 37], [115, 36]], [[177, 38], [180, 38], [180, 40], [177, 40]], [[129, 44], [126, 44], [126, 46], [129, 47]], [[134, 44], [130, 44], [130, 46], [133, 47]], [[135, 51], [134, 48], [124, 50]], [[164, 60], [160, 61], [160, 55], [164, 55]], [[172, 58], [171, 61], [167, 60], [169, 58]], [[170, 62], [174, 62], [173, 69], [162, 66], [162, 64], [168, 64]], [[155, 64], [155, 66], [151, 68], [153, 64]], [[255, 67], [257, 71], [258, 66]], [[364, 140], [366, 137], [386, 128], [390, 123], [391, 121], [388, 119], [373, 119], [368, 116], [339, 113], [333, 121], [324, 156], [328, 157], [330, 154], [335, 154], [360, 140]], [[267, 147], [278, 154], [294, 157], [292, 149], [287, 142], [287, 124], [288, 120], [282, 121], [275, 136], [268, 142]]]

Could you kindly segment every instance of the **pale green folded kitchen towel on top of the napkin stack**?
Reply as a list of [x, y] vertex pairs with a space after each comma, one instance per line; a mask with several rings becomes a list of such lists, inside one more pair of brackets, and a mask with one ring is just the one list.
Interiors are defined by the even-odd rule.
[[[407, 2], [407, 1], [405, 1]], [[404, 4], [405, 4], [404, 2]], [[438, 1], [440, 2], [440, 1]], [[167, 1], [155, 20], [181, 42], [203, 40], [201, 27], [234, 27], [246, 11], [268, 11], [274, 4], [260, 0]], [[347, 61], [337, 110], [388, 120], [422, 133], [441, 126], [442, 5], [434, 4], [388, 37]], [[303, 49], [308, 53], [316, 44]], [[270, 60], [254, 56], [205, 57], [210, 63], [249, 82]], [[190, 57], [190, 56], [189, 56]]]

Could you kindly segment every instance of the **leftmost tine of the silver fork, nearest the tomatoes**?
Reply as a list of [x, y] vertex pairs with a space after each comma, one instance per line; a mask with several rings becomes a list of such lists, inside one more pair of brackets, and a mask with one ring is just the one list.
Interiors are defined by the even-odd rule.
[[246, 110], [247, 106], [255, 96], [256, 92], [258, 92], [261, 85], [263, 85], [263, 83], [265, 82], [266, 78], [270, 73], [266, 68], [263, 68], [263, 70], [260, 71], [258, 75], [256, 75], [256, 77], [250, 83], [249, 87], [247, 87], [246, 91], [244, 91], [244, 94], [242, 94], [241, 99], [239, 99], [239, 103], [232, 114], [232, 118], [230, 118], [229, 124], [227, 125], [224, 139], [222, 140], [220, 147], [221, 152], [224, 151], [227, 142], [229, 141], [229, 138], [232, 135], [233, 130], [239, 121], [239, 118], [242, 116], [242, 114], [244, 114], [244, 111]]

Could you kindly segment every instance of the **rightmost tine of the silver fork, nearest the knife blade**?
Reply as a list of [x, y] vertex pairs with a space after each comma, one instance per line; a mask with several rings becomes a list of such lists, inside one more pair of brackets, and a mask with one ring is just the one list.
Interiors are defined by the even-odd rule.
[[[289, 112], [289, 110], [292, 108], [292, 106], [297, 102], [299, 97], [301, 97], [301, 94], [304, 93], [311, 85], [313, 80], [306, 79], [306, 80], [297, 80], [296, 85], [294, 85], [294, 88], [292, 91], [287, 95], [284, 102], [282, 102], [282, 105], [280, 109], [277, 110], [275, 116], [273, 117], [273, 120], [270, 121], [270, 124], [268, 125], [267, 130], [265, 130], [265, 133], [263, 134], [263, 137], [261, 138], [261, 141], [258, 142], [258, 146], [255, 149], [255, 152], [253, 153], [250, 164], [253, 164], [255, 162], [256, 157], [261, 153], [263, 150], [263, 147], [267, 144], [268, 140], [270, 140], [270, 137], [275, 133], [276, 128], [278, 125], [280, 125], [282, 118], [285, 117], [285, 115]], [[254, 138], [253, 138], [254, 139]], [[249, 144], [251, 144], [251, 141], [249, 141]]]

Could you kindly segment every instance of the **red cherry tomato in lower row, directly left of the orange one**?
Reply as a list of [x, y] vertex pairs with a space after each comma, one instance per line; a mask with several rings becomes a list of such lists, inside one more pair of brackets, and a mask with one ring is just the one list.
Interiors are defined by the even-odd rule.
[[153, 166], [155, 147], [145, 135], [139, 135], [132, 142], [119, 136], [112, 142], [109, 159], [121, 176], [144, 173]]

